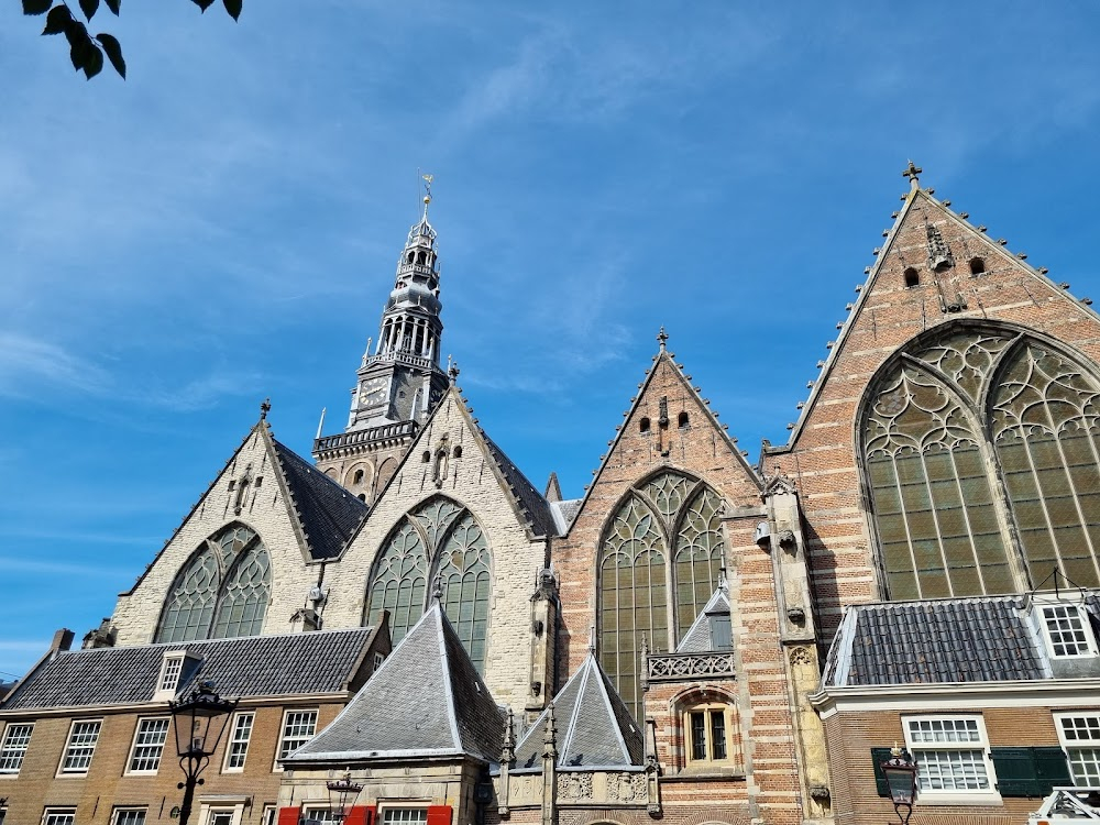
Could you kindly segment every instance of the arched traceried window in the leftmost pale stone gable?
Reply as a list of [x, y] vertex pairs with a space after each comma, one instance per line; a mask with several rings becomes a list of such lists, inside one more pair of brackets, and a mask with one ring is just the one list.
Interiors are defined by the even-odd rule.
[[263, 629], [270, 598], [267, 549], [251, 528], [230, 525], [207, 539], [176, 574], [155, 640], [254, 636]]

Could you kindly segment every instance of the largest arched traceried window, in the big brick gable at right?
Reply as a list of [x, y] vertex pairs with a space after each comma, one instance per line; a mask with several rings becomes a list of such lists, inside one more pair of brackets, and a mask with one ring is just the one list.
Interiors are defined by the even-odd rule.
[[865, 480], [890, 598], [1100, 584], [1100, 382], [1026, 333], [956, 326], [872, 383]]

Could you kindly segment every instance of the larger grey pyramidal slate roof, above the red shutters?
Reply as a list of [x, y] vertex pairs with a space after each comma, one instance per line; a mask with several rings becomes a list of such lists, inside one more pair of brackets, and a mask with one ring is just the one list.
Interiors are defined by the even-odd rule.
[[499, 758], [504, 714], [439, 604], [321, 733], [287, 761], [437, 756]]

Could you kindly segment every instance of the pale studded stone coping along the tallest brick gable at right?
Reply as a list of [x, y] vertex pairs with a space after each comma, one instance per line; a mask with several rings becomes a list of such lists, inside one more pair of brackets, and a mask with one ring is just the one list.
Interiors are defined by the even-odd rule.
[[[950, 222], [955, 223], [957, 227], [968, 232], [975, 239], [980, 239], [981, 243], [989, 250], [991, 254], [997, 255], [1005, 261], [1009, 261], [1014, 267], [1022, 270], [1027, 275], [1031, 275], [1032, 278], [1040, 282], [1047, 288], [1053, 289], [1056, 293], [1063, 292], [1062, 288], [1054, 283], [1054, 280], [1048, 278], [1046, 275], [1042, 274], [1036, 267], [1032, 266], [1026, 261], [1015, 257], [1014, 255], [1010, 254], [1008, 250], [1003, 249], [999, 244], [991, 241], [983, 232], [979, 232], [974, 226], [971, 226], [968, 220], [963, 218], [960, 215], [952, 211], [952, 209], [949, 207], [944, 206], [942, 201], [936, 200], [932, 195], [928, 194], [926, 189], [924, 189], [923, 187], [910, 189], [910, 191], [906, 193], [905, 195], [905, 205], [898, 212], [898, 218], [894, 219], [893, 226], [890, 228], [890, 232], [887, 235], [886, 243], [882, 244], [881, 248], [882, 251], [876, 256], [875, 264], [871, 266], [870, 273], [864, 280], [862, 289], [860, 289], [859, 296], [854, 301], [851, 311], [848, 314], [848, 318], [845, 320], [840, 333], [836, 337], [836, 343], [834, 344], [833, 349], [829, 350], [828, 356], [825, 359], [825, 366], [822, 367], [822, 371], [817, 375], [817, 378], [814, 380], [814, 386], [810, 391], [810, 397], [806, 398], [806, 402], [799, 414], [799, 418], [794, 424], [794, 429], [791, 430], [791, 433], [787, 439], [787, 443], [762, 446], [760, 450], [761, 464], [766, 455], [782, 455], [784, 453], [790, 452], [794, 447], [794, 442], [798, 441], [799, 438], [801, 438], [802, 432], [805, 429], [806, 421], [810, 419], [810, 414], [813, 411], [814, 407], [816, 406], [817, 399], [821, 396], [822, 387], [824, 387], [828, 383], [828, 378], [833, 374], [833, 370], [836, 366], [837, 359], [839, 358], [842, 350], [844, 350], [845, 343], [847, 342], [848, 337], [851, 333], [851, 329], [855, 326], [855, 320], [862, 311], [864, 304], [867, 302], [867, 296], [870, 294], [871, 287], [878, 279], [879, 272], [883, 263], [886, 263], [887, 257], [889, 256], [894, 243], [898, 240], [898, 230], [901, 228], [902, 223], [905, 222], [910, 211], [913, 210], [914, 204], [916, 204], [919, 199], [927, 201], [930, 206], [932, 206], [934, 209], [937, 209], [939, 212], [946, 216]], [[1088, 316], [1092, 320], [1100, 320], [1100, 314], [1098, 314], [1097, 310], [1092, 309], [1091, 307], [1087, 307], [1078, 300], [1070, 300], [1069, 302], [1076, 306], [1079, 311], [1081, 311], [1084, 315]], [[971, 316], [967, 316], [967, 318], [970, 317]], [[982, 316], [982, 318], [979, 320], [985, 320], [985, 316]]]

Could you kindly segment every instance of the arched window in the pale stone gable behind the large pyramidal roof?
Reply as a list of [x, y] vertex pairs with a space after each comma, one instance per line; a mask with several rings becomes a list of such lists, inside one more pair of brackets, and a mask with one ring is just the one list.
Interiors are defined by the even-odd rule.
[[424, 615], [439, 576], [442, 605], [479, 671], [485, 667], [492, 553], [473, 515], [449, 498], [432, 498], [406, 515], [378, 551], [369, 586], [366, 623], [389, 610], [394, 644]]

